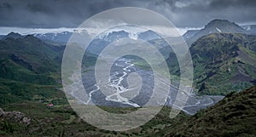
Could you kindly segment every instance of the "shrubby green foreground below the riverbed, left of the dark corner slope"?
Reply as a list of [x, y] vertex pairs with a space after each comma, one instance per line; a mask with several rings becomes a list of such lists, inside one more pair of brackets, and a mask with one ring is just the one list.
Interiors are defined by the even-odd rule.
[[[177, 119], [169, 118], [171, 108], [164, 107], [163, 110], [150, 122], [142, 127], [124, 132], [102, 130], [85, 123], [76, 115], [70, 106], [60, 105], [48, 108], [45, 104], [36, 101], [25, 101], [23, 103], [9, 104], [2, 106], [3, 111], [20, 111], [24, 117], [31, 119], [30, 124], [17, 122], [15, 117], [1, 116], [0, 110], [0, 136], [150, 136], [156, 131], [160, 131], [166, 126], [184, 119], [184, 114], [180, 114]], [[124, 113], [134, 111], [136, 108], [114, 108], [102, 106], [102, 109], [113, 113]]]

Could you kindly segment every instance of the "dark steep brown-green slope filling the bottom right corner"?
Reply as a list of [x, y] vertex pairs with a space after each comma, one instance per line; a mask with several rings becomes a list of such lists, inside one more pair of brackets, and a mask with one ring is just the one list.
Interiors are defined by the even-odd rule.
[[172, 124], [157, 136], [255, 136], [256, 86], [229, 95], [183, 123]]

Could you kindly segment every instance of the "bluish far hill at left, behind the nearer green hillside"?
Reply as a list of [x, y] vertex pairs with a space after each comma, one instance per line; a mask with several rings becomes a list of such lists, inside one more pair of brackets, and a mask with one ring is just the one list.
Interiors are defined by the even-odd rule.
[[12, 60], [36, 73], [57, 71], [60, 54], [52, 46], [33, 36], [6, 38], [0, 41], [0, 60]]

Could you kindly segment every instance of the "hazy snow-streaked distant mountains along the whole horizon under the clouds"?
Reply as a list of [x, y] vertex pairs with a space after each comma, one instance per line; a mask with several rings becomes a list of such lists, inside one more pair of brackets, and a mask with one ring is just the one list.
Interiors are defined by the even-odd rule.
[[[52, 41], [55, 43], [67, 43], [68, 39], [75, 33], [82, 37], [90, 37], [89, 33], [84, 31], [62, 31], [56, 33], [36, 33], [33, 36], [38, 37], [44, 41]], [[207, 36], [212, 33], [244, 33], [256, 35], [256, 25], [238, 26], [235, 22], [230, 22], [229, 20], [212, 20], [201, 30], [189, 30], [183, 34], [185, 41], [191, 45], [198, 38]], [[15, 36], [16, 33], [11, 33], [9, 37], [20, 37]], [[7, 36], [0, 36], [0, 39], [6, 38]], [[114, 38], [131, 37], [133, 39], [143, 39], [145, 41], [150, 41], [154, 39], [160, 39], [160, 36], [154, 31], [141, 31], [137, 33], [131, 33], [131, 31], [120, 30], [120, 31], [108, 31], [108, 33], [103, 33], [101, 36], [96, 38], [103, 39], [105, 41], [111, 42]]]

